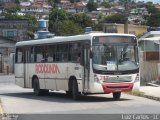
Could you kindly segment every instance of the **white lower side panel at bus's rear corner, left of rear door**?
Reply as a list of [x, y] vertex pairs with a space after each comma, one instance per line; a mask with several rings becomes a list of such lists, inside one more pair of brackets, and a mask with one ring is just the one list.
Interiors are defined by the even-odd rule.
[[24, 64], [15, 64], [15, 83], [20, 87], [24, 86]]

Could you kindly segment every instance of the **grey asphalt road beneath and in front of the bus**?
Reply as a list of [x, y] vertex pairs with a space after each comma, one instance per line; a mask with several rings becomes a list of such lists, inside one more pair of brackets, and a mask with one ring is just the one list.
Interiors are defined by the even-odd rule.
[[112, 94], [101, 94], [74, 101], [64, 92], [34, 96], [32, 89], [14, 82], [14, 76], [0, 76], [0, 98], [7, 114], [160, 114], [160, 102], [147, 98], [122, 94], [114, 101]]

